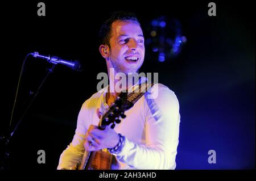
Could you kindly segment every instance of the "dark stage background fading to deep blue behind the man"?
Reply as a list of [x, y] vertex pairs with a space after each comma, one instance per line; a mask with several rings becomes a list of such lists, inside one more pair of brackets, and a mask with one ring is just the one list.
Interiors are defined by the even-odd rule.
[[[176, 18], [187, 37], [179, 56], [164, 62], [147, 56], [141, 69], [158, 72], [159, 82], [179, 99], [176, 169], [255, 169], [255, 19], [250, 2], [214, 1], [214, 17], [207, 14], [210, 1], [43, 1], [46, 16], [37, 15], [38, 2], [1, 3], [1, 133], [9, 128], [26, 54], [80, 60], [84, 71], [56, 66], [10, 141], [10, 169], [56, 169], [72, 141], [82, 103], [97, 91], [97, 74], [106, 72], [97, 35], [116, 10], [137, 13], [142, 27], [161, 15]], [[28, 57], [12, 129], [47, 66]], [[38, 164], [38, 150], [46, 151], [46, 164]], [[216, 164], [208, 163], [208, 150], [216, 150]]]

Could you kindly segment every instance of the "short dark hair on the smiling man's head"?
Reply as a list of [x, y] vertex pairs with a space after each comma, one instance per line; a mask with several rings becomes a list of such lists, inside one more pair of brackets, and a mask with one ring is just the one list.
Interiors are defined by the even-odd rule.
[[99, 42], [100, 45], [108, 45], [110, 48], [109, 40], [111, 38], [112, 24], [117, 20], [122, 20], [122, 21], [132, 20], [134, 22], [137, 22], [139, 26], [141, 26], [141, 24], [139, 23], [139, 20], [137, 19], [137, 16], [133, 12], [125, 12], [125, 11], [112, 12], [112, 14], [110, 15], [110, 18], [107, 19], [100, 28], [100, 33], [98, 35], [100, 40]]

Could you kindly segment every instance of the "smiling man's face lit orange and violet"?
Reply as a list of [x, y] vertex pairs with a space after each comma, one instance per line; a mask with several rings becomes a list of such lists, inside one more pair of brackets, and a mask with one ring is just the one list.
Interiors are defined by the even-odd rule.
[[[135, 73], [144, 61], [144, 37], [141, 27], [134, 21], [112, 23], [109, 61], [115, 73]], [[110, 66], [111, 66], [110, 65]]]

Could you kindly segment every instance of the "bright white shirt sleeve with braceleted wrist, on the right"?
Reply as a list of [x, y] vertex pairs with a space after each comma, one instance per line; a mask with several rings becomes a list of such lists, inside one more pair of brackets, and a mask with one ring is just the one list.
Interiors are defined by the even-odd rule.
[[[155, 93], [156, 98], [148, 98]], [[158, 84], [144, 98], [146, 145], [126, 138], [117, 159], [134, 169], [175, 169], [180, 125], [177, 97], [168, 87]]]

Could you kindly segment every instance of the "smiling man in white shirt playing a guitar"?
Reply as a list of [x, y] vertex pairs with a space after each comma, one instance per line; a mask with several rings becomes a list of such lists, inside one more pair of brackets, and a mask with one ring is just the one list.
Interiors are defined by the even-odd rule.
[[[118, 169], [175, 169], [179, 138], [179, 102], [173, 91], [157, 83], [151, 87], [158, 96], [144, 94], [125, 112], [127, 116], [114, 129], [98, 129], [101, 113], [119, 95], [115, 90], [118, 73], [137, 73], [144, 61], [144, 37], [137, 18], [115, 12], [100, 30], [100, 53], [106, 60], [109, 86], [82, 104], [75, 136], [60, 156], [57, 169], [76, 169], [84, 151], [106, 149], [117, 159]], [[110, 70], [114, 70], [114, 74]], [[127, 82], [126, 90], [134, 84]], [[157, 89], [157, 90], [156, 90]], [[119, 134], [118, 134], [119, 133]]]

